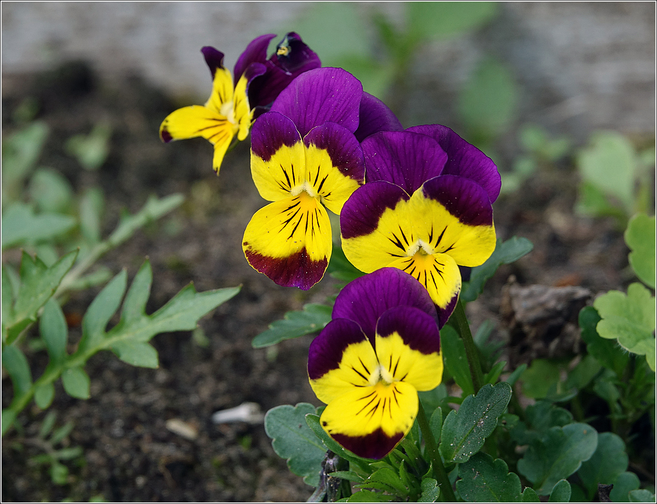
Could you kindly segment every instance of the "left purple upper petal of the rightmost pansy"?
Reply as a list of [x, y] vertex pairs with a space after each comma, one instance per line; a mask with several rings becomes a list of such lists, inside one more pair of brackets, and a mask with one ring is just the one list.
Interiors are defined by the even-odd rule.
[[437, 141], [409, 131], [381, 131], [365, 139], [362, 147], [366, 181], [391, 182], [409, 195], [440, 175], [447, 161]]

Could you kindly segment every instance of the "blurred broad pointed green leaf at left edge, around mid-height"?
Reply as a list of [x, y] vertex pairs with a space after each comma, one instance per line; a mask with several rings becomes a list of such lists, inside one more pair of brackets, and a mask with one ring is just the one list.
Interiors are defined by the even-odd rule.
[[62, 214], [34, 214], [30, 206], [14, 203], [3, 212], [2, 248], [49, 240], [66, 233], [76, 219]]

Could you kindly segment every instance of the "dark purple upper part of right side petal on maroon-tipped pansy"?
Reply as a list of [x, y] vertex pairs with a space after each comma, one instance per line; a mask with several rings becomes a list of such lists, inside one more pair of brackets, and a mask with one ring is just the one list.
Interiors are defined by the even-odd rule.
[[328, 152], [331, 163], [345, 177], [362, 183], [365, 178], [363, 151], [353, 133], [333, 122], [313, 127], [304, 137], [304, 144], [315, 145], [317, 149]]

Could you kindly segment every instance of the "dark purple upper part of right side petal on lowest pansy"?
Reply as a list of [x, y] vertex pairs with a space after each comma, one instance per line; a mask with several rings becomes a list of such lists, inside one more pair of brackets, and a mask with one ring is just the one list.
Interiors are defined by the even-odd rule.
[[393, 332], [397, 332], [411, 350], [426, 355], [440, 352], [436, 319], [419, 308], [396, 306], [382, 313], [376, 323], [376, 334], [385, 338]]

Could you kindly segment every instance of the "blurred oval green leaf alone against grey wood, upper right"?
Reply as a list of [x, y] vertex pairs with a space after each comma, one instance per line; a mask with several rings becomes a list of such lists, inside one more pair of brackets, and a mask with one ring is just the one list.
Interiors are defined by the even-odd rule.
[[482, 58], [459, 95], [464, 124], [474, 135], [485, 139], [507, 131], [516, 113], [517, 88], [504, 64], [491, 57]]

